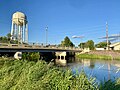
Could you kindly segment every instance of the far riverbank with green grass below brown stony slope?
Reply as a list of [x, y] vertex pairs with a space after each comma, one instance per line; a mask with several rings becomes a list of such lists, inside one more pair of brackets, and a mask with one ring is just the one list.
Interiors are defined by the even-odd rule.
[[76, 56], [81, 59], [120, 60], [120, 53], [116, 51], [90, 51]]

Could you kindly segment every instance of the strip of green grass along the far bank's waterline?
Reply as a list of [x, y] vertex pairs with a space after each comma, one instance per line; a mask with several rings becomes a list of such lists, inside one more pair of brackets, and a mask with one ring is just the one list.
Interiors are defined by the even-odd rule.
[[112, 59], [118, 59], [120, 58], [113, 58], [112, 56], [107, 56], [107, 55], [96, 55], [96, 54], [78, 54], [76, 57], [81, 58], [81, 59], [103, 59], [103, 60], [112, 60]]

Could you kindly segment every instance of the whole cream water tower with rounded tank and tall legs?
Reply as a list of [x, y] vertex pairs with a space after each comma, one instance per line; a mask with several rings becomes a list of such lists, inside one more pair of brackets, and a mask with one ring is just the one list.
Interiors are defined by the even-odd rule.
[[28, 43], [28, 21], [22, 12], [16, 12], [12, 16], [11, 40]]

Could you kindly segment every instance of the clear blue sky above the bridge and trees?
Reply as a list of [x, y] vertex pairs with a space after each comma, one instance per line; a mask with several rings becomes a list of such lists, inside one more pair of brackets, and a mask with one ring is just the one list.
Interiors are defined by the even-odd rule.
[[109, 35], [120, 32], [120, 0], [0, 0], [0, 36], [10, 32], [16, 11], [28, 18], [29, 42], [45, 43], [46, 26], [50, 44], [59, 44], [65, 36], [76, 45], [91, 39], [98, 43], [106, 35], [106, 21]]

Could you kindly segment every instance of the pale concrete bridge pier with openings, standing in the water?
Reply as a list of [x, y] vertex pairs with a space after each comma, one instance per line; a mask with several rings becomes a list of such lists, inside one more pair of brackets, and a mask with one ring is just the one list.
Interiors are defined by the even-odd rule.
[[66, 52], [55, 52], [55, 63], [58, 65], [66, 66], [67, 60], [66, 60]]

